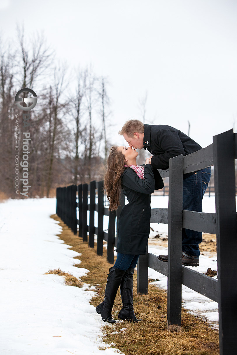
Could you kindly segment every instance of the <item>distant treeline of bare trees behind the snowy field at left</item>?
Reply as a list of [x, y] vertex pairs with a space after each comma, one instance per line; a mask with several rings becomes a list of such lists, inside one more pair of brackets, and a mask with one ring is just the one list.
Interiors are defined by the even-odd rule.
[[[0, 38], [0, 192], [23, 197], [15, 192], [15, 176], [26, 130], [31, 138], [29, 197], [48, 197], [58, 186], [101, 180], [111, 145], [108, 81], [96, 76], [91, 66], [73, 70], [60, 63], [43, 35], [26, 36], [23, 28], [17, 28], [15, 42]], [[22, 88], [34, 90], [38, 97], [27, 128], [22, 120], [27, 111], [15, 104]], [[31, 94], [24, 92], [21, 97]], [[18, 168], [22, 178], [22, 166]]]

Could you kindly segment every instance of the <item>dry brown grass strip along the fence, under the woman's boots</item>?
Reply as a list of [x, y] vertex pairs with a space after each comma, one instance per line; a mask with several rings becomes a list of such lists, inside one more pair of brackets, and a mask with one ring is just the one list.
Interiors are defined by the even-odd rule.
[[[106, 250], [103, 256], [96, 254], [94, 249], [88, 247], [81, 238], [73, 235], [70, 229], [58, 218], [63, 227], [60, 239], [66, 244], [72, 245], [73, 250], [82, 253], [76, 257], [81, 263], [75, 266], [84, 267], [90, 273], [81, 278], [82, 281], [95, 286], [98, 296], [93, 297], [91, 304], [97, 306], [104, 298], [104, 290], [107, 280], [107, 273], [112, 266], [106, 261]], [[99, 286], [98, 286], [99, 284]], [[126, 355], [217, 355], [219, 354], [218, 331], [211, 329], [209, 324], [200, 318], [192, 316], [182, 310], [181, 333], [170, 333], [167, 331], [167, 295], [164, 290], [149, 285], [148, 295], [137, 295], [137, 273], [134, 274], [133, 303], [135, 314], [142, 318], [143, 322], [128, 323], [120, 321], [115, 325], [105, 323], [103, 333], [106, 343], [115, 343], [115, 348]], [[112, 314], [117, 319], [118, 311], [122, 303], [119, 292], [117, 293]], [[121, 328], [126, 328], [125, 333]], [[112, 334], [117, 332], [118, 334]]]

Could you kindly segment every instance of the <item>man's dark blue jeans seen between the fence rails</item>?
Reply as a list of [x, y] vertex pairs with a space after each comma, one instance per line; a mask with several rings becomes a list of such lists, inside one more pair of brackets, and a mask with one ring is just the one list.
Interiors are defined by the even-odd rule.
[[[199, 170], [193, 175], [184, 174], [183, 209], [202, 212], [202, 197], [207, 189], [210, 178], [210, 167]], [[189, 255], [199, 256], [199, 244], [201, 241], [201, 232], [183, 228], [182, 251]]]

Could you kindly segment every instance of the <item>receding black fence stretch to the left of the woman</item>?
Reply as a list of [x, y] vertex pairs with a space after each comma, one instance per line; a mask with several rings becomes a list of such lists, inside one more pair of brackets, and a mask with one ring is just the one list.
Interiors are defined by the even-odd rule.
[[[117, 245], [115, 237], [116, 216], [124, 206], [124, 197], [121, 207], [116, 212], [110, 212], [105, 207], [105, 195], [103, 192], [104, 181], [91, 181], [90, 184], [70, 185], [58, 187], [56, 190], [56, 213], [74, 234], [77, 234], [88, 246], [94, 248], [94, 237], [97, 235], [97, 254], [103, 254], [103, 241], [107, 242], [107, 261], [114, 263], [114, 247]], [[88, 203], [89, 200], [89, 203]], [[89, 225], [88, 225], [89, 211]], [[95, 211], [97, 212], [97, 227], [95, 224]], [[77, 219], [77, 212], [79, 219]], [[104, 216], [109, 216], [108, 231], [104, 231]], [[89, 232], [89, 235], [88, 235]]]

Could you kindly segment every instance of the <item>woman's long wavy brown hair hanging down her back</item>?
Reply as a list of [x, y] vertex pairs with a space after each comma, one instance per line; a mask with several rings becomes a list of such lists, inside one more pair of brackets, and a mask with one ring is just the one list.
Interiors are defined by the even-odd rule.
[[117, 150], [118, 146], [110, 148], [107, 159], [107, 171], [104, 177], [104, 188], [108, 201], [110, 202], [109, 211], [116, 211], [120, 206], [119, 199], [121, 194], [121, 175], [125, 170], [125, 156]]

